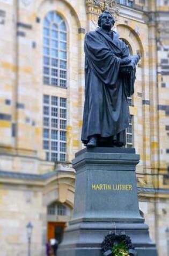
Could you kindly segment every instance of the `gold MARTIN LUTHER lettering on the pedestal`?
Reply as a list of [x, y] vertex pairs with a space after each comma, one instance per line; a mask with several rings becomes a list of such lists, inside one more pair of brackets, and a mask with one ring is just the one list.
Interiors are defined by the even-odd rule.
[[133, 190], [130, 184], [92, 184], [92, 190]]

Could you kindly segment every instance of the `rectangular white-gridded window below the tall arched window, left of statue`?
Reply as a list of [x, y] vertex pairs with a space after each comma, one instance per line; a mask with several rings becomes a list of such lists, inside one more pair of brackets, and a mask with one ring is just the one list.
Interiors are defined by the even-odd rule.
[[[46, 96], [49, 96], [48, 101], [45, 101]], [[57, 102], [56, 105], [52, 105], [53, 97], [55, 97], [55, 102]], [[44, 114], [43, 112], [42, 146], [46, 154], [46, 161], [65, 162], [67, 155], [68, 125], [67, 98], [43, 94], [43, 109], [45, 109], [45, 106], [49, 109], [48, 114]], [[57, 116], [53, 115], [53, 107], [55, 110], [57, 109]], [[62, 110], [64, 110], [65, 113], [64, 117], [61, 115]], [[48, 123], [45, 122], [45, 119], [48, 119]]]

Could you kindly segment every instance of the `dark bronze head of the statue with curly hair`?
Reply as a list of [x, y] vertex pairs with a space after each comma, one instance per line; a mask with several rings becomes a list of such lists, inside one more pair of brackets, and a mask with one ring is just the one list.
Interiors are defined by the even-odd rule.
[[114, 26], [115, 20], [112, 16], [112, 13], [105, 10], [99, 15], [98, 18], [98, 26], [102, 27], [102, 29], [111, 29]]

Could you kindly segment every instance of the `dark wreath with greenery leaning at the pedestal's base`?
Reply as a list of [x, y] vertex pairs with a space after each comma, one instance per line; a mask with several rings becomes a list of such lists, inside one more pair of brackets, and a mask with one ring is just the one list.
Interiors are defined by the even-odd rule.
[[103, 256], [136, 256], [134, 245], [129, 236], [123, 233], [108, 234], [101, 244]]

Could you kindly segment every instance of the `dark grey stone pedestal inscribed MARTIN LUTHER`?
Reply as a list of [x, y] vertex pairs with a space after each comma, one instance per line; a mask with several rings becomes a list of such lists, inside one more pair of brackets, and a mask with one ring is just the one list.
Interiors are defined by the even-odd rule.
[[105, 236], [124, 231], [138, 256], [157, 256], [138, 208], [135, 149], [80, 150], [76, 170], [74, 214], [58, 248], [58, 256], [101, 256]]

